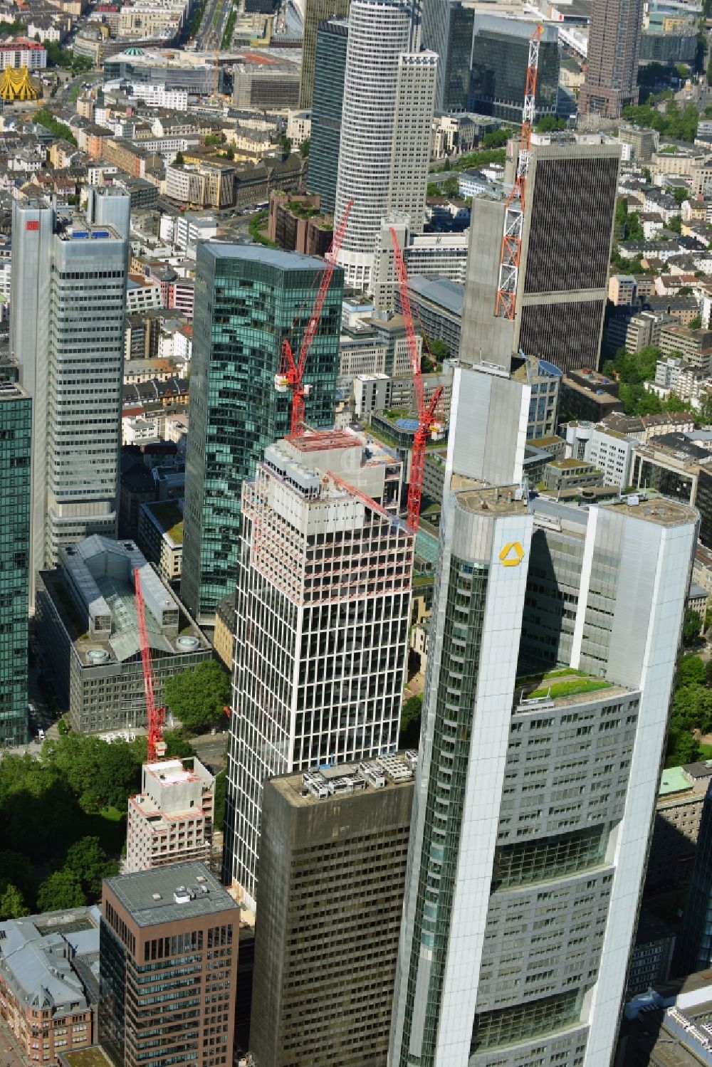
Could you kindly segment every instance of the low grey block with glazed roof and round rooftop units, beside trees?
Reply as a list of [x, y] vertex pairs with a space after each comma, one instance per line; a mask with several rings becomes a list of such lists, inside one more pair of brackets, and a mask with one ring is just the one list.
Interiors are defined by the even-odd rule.
[[94, 535], [60, 548], [41, 571], [37, 631], [53, 691], [81, 733], [145, 727], [146, 700], [136, 611], [141, 575], [156, 703], [167, 678], [210, 658], [210, 646], [133, 541]]

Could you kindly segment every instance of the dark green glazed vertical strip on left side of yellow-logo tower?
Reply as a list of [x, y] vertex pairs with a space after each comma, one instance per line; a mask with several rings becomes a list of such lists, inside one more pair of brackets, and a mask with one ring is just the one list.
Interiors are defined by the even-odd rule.
[[[409, 1064], [429, 1067], [434, 1063], [488, 573], [486, 564], [453, 556], [449, 574], [444, 576], [447, 582], [446, 622], [415, 909], [415, 936], [406, 999], [406, 1015], [410, 1019], [415, 1004], [421, 945], [430, 950], [432, 966], [421, 1055], [415, 1058], [409, 1055], [408, 1045], [404, 1041], [399, 1067], [408, 1067]], [[443, 579], [442, 573], [440, 579]], [[436, 592], [434, 602], [438, 600], [439, 593]]]

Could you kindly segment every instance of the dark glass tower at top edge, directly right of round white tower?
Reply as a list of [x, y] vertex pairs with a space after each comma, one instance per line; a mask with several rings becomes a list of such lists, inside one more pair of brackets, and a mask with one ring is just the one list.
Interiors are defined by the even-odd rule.
[[460, 0], [425, 0], [421, 46], [437, 52], [436, 111], [464, 111], [470, 87], [474, 11]]

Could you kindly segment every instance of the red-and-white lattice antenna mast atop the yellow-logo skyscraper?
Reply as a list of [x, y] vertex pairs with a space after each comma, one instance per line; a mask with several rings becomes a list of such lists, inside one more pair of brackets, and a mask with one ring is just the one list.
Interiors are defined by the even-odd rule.
[[494, 302], [494, 314], [500, 318], [506, 319], [513, 319], [517, 303], [517, 281], [519, 264], [522, 258], [522, 226], [524, 221], [526, 178], [529, 172], [532, 126], [535, 116], [539, 42], [541, 41], [542, 29], [541, 25], [537, 26], [529, 37], [529, 62], [526, 68], [517, 177], [505, 205], [504, 235], [502, 237], [502, 251], [500, 253], [500, 281]]

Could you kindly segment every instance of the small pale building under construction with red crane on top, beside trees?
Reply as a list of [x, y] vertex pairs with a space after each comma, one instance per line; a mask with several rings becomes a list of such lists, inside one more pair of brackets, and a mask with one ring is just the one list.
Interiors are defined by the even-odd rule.
[[215, 778], [197, 757], [144, 763], [129, 797], [124, 871], [151, 871], [189, 860], [210, 862]]

